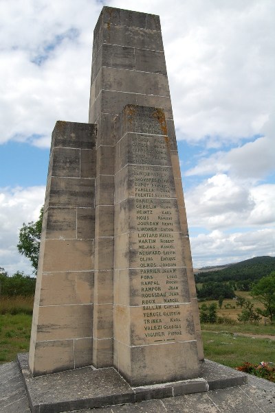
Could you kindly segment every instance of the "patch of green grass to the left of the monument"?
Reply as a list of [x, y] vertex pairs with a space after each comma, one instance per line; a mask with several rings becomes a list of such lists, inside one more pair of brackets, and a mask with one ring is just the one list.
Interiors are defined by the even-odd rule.
[[12, 362], [17, 353], [29, 351], [31, 325], [30, 314], [0, 315], [0, 364]]

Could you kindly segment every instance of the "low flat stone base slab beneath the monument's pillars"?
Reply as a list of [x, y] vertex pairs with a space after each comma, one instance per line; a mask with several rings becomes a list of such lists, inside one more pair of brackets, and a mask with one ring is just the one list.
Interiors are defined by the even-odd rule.
[[206, 360], [200, 377], [172, 383], [131, 387], [115, 368], [93, 366], [32, 377], [28, 353], [17, 355], [32, 413], [59, 413], [137, 403], [181, 394], [208, 392], [247, 384], [247, 375]]

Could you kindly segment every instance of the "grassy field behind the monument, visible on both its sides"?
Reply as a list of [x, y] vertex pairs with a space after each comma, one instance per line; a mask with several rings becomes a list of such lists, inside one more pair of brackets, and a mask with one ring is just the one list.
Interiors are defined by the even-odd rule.
[[[237, 293], [238, 294], [238, 293]], [[246, 298], [248, 293], [243, 293]], [[241, 295], [241, 294], [239, 294]], [[33, 297], [2, 299], [0, 303], [0, 363], [10, 362], [17, 353], [28, 351], [32, 323]], [[206, 301], [211, 303], [211, 301]], [[217, 301], [216, 301], [217, 303]], [[259, 303], [255, 307], [259, 307]], [[235, 300], [224, 300], [219, 316], [235, 318], [241, 312], [239, 307], [224, 309], [224, 305], [236, 307]], [[201, 303], [200, 303], [201, 305]], [[13, 314], [10, 314], [12, 312]], [[17, 314], [19, 312], [19, 314]], [[243, 362], [275, 364], [275, 340], [257, 338], [257, 335], [273, 335], [274, 325], [205, 324], [201, 325], [205, 357], [226, 366], [236, 367]], [[253, 337], [242, 337], [238, 333], [248, 333]]]

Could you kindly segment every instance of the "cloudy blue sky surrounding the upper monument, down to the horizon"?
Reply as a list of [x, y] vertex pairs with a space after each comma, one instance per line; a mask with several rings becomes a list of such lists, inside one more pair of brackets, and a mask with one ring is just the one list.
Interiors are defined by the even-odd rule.
[[194, 267], [274, 256], [274, 0], [0, 0], [0, 267], [32, 274], [19, 228], [56, 121], [88, 121], [102, 5], [160, 16]]

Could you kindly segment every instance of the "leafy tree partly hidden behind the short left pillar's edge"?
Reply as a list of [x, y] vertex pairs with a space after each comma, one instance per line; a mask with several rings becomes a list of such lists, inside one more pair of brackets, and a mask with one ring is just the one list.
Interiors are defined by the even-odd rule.
[[19, 231], [19, 243], [17, 249], [20, 254], [25, 255], [30, 259], [34, 273], [37, 273], [37, 267], [39, 264], [39, 248], [42, 231], [42, 219], [43, 219], [43, 207], [40, 210], [39, 219], [36, 222], [23, 223], [22, 228]]

